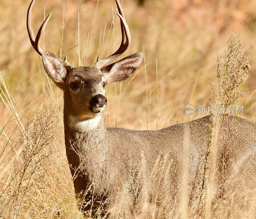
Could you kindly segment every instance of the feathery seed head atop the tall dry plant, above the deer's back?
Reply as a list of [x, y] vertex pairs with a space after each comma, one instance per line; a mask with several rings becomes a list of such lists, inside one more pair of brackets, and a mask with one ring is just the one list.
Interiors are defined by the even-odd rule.
[[[210, 84], [219, 105], [231, 105], [245, 96], [241, 86], [248, 78], [249, 60], [252, 55], [243, 41], [243, 36], [237, 32], [229, 34], [228, 50], [217, 51], [217, 81], [215, 86], [212, 76]], [[217, 88], [216, 88], [217, 87]]]

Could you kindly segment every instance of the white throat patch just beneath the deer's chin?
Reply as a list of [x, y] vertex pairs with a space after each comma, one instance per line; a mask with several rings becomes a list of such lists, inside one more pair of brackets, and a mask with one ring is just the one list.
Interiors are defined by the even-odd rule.
[[100, 115], [89, 120], [82, 120], [77, 116], [69, 115], [68, 119], [68, 126], [70, 129], [83, 132], [94, 129], [100, 122]]

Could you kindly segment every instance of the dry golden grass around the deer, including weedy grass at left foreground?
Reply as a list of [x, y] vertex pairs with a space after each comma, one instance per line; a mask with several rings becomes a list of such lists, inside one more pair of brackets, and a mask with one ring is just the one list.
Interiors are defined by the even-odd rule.
[[[82, 218], [65, 153], [59, 107], [63, 96], [52, 87], [30, 45], [25, 21], [29, 3], [0, 3], [0, 217]], [[92, 65], [98, 55], [113, 52], [121, 41], [119, 21], [113, 34], [115, 1], [99, 1], [97, 11], [96, 5], [97, 1], [38, 0], [34, 30], [43, 21], [44, 7], [45, 13], [53, 12], [42, 41], [46, 50], [57, 56], [67, 53], [74, 65]], [[214, 101], [207, 77], [216, 74], [214, 49], [226, 49], [228, 32], [242, 33], [255, 54], [255, 7], [252, 0], [146, 0], [143, 7], [124, 0], [132, 34], [125, 54], [144, 51], [145, 65], [128, 80], [108, 85], [107, 126], [156, 130], [197, 118], [196, 113], [185, 114], [185, 105]], [[241, 117], [255, 121], [254, 58], [251, 66], [244, 84], [246, 97], [237, 104], [245, 106]], [[216, 217], [236, 218], [238, 213], [241, 218], [255, 217], [255, 197], [248, 193], [243, 203], [229, 198]], [[244, 206], [242, 211], [239, 206]], [[196, 207], [188, 209], [188, 215], [195, 216], [190, 209]], [[180, 209], [188, 216], [184, 211]]]

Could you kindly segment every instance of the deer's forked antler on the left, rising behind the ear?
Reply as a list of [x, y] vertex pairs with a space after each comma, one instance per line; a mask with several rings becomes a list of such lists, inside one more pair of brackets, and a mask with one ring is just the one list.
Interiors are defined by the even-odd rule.
[[[44, 20], [43, 24], [41, 25], [41, 27], [39, 28], [38, 30], [38, 33], [35, 37], [34, 35], [34, 32], [33, 32], [33, 29], [32, 29], [32, 26], [31, 26], [31, 12], [32, 12], [32, 8], [34, 6], [34, 3], [35, 3], [36, 0], [32, 0], [29, 7], [28, 7], [28, 14], [27, 14], [27, 30], [28, 30], [28, 36], [29, 36], [29, 39], [30, 39], [30, 42], [33, 46], [33, 48], [36, 50], [36, 52], [42, 56], [43, 53], [44, 53], [44, 50], [41, 49], [40, 47], [40, 39], [44, 33], [44, 28], [47, 24], [47, 22], [49, 21], [51, 15], [52, 15], [52, 12], [48, 15], [48, 17]], [[66, 69], [71, 69], [71, 68], [74, 68], [74, 66], [70, 65], [68, 62], [67, 62], [67, 56], [65, 56], [65, 59], [64, 60], [61, 60], [60, 61], [62, 62], [62, 64], [64, 65], [64, 67]]]

